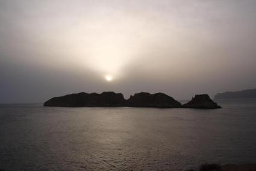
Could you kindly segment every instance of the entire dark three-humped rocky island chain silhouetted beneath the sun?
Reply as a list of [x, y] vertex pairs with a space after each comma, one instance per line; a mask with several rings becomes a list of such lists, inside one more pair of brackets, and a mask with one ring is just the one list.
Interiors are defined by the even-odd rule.
[[47, 107], [155, 107], [155, 108], [220, 108], [208, 95], [196, 95], [187, 104], [181, 105], [164, 93], [136, 93], [129, 99], [121, 93], [77, 93], [49, 99]]

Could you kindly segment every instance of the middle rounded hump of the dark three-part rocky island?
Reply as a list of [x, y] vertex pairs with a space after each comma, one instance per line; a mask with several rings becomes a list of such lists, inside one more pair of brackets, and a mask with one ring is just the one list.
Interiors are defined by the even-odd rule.
[[181, 103], [175, 101], [170, 96], [164, 93], [136, 93], [134, 96], [126, 101], [126, 106], [128, 107], [157, 107], [157, 108], [175, 108], [181, 107]]

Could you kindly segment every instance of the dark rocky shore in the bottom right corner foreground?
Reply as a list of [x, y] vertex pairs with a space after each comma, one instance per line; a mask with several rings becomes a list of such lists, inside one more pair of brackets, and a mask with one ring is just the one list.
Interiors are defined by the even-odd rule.
[[199, 169], [187, 169], [185, 171], [255, 171], [256, 164], [202, 164]]

